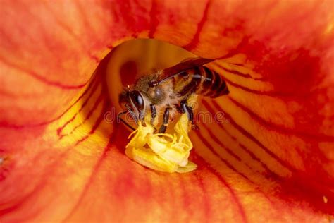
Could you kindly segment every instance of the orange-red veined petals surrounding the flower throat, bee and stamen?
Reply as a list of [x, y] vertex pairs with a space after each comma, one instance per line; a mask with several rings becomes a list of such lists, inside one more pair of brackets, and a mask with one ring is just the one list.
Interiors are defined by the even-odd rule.
[[[0, 221], [329, 222], [332, 8], [330, 0], [2, 2]], [[211, 68], [228, 83], [228, 97], [200, 101], [220, 123], [190, 135], [198, 165], [190, 173], [132, 162], [124, 129], [104, 121], [101, 59], [141, 37], [217, 59]]]

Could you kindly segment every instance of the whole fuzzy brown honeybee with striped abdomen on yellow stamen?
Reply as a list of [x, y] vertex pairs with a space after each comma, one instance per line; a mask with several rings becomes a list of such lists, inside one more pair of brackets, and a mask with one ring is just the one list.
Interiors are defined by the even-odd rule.
[[125, 110], [118, 114], [118, 119], [135, 130], [120, 116], [129, 113], [136, 124], [141, 122], [144, 126], [144, 117], [150, 113], [150, 123], [153, 126], [157, 114], [163, 111], [163, 123], [159, 133], [165, 133], [169, 120], [173, 119], [175, 112], [180, 112], [187, 114], [192, 128], [197, 128], [194, 123], [194, 111], [187, 104], [187, 99], [193, 94], [219, 97], [229, 93], [223, 78], [203, 66], [211, 61], [214, 60], [200, 57], [189, 59], [162, 71], [142, 76], [133, 86], [128, 85], [120, 93], [119, 103]]

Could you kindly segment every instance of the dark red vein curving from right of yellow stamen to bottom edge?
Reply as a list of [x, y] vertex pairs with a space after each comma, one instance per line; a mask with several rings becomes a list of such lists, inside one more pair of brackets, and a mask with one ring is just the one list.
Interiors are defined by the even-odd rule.
[[246, 214], [245, 214], [245, 210], [243, 209], [240, 203], [240, 200], [239, 198], [237, 198], [237, 195], [235, 194], [235, 191], [233, 190], [233, 188], [231, 188], [228, 182], [226, 182], [225, 179], [223, 179], [223, 176], [221, 176], [221, 174], [219, 174], [216, 171], [216, 169], [212, 168], [210, 164], [206, 162], [206, 160], [203, 157], [197, 154], [197, 158], [199, 159], [200, 162], [206, 164], [205, 167], [209, 169], [209, 171], [211, 171], [211, 173], [214, 174], [217, 177], [217, 179], [221, 181], [221, 183], [223, 183], [223, 185], [228, 189], [228, 191], [230, 192], [230, 195], [232, 196], [232, 199], [235, 201], [235, 204], [237, 205], [237, 209], [239, 210], [240, 216], [242, 218], [242, 222], [248, 222]]

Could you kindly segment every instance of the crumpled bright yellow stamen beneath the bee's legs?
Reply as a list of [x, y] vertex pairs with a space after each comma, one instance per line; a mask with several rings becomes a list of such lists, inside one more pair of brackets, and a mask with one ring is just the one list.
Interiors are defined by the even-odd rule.
[[196, 169], [197, 165], [188, 161], [192, 142], [188, 136], [189, 121], [183, 114], [174, 126], [175, 133], [154, 133], [154, 127], [140, 124], [131, 133], [125, 154], [145, 167], [165, 172], [184, 173]]

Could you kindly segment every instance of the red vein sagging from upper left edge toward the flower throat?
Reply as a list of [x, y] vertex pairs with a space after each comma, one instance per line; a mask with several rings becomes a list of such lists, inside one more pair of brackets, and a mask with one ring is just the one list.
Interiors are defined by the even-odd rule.
[[85, 87], [85, 85], [87, 85], [87, 83], [89, 82], [89, 79], [82, 84], [79, 85], [66, 85], [63, 83], [59, 83], [57, 81], [54, 80], [48, 80], [47, 78], [40, 76], [39, 74], [33, 72], [33, 71], [29, 71], [27, 68], [23, 68], [21, 66], [18, 66], [16, 64], [11, 63], [10, 61], [7, 61], [6, 59], [4, 59], [4, 57], [0, 56], [0, 60], [6, 64], [7, 66], [11, 66], [12, 68], [16, 68], [18, 71], [23, 71], [24, 73], [26, 73], [28, 76], [35, 78], [36, 80], [41, 81], [42, 83], [46, 84], [46, 85], [51, 85], [54, 86], [56, 88], [61, 88], [63, 90], [76, 90], [76, 89], [80, 89]]

